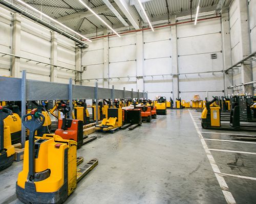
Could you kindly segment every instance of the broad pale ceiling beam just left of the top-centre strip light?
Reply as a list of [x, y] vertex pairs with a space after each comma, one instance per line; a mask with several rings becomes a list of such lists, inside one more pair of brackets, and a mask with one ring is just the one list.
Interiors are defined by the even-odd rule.
[[139, 18], [134, 9], [125, 0], [114, 0], [117, 6], [121, 9], [124, 15], [128, 18], [135, 29], [139, 29]]

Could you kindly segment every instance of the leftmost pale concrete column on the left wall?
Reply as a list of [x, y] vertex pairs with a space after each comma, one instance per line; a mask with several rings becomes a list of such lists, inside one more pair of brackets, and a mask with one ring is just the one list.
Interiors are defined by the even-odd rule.
[[[13, 32], [12, 32], [12, 54], [20, 56], [20, 24], [22, 17], [18, 13], [13, 14]], [[12, 57], [11, 76], [19, 78], [20, 59]]]

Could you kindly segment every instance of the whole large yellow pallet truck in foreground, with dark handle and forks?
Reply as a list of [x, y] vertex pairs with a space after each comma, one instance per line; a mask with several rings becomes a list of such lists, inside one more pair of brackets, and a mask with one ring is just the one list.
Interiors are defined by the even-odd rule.
[[[30, 135], [25, 143], [23, 170], [16, 182], [17, 198], [28, 204], [63, 203], [74, 192], [77, 182], [97, 166], [98, 160], [77, 168], [76, 141], [54, 134], [35, 137], [45, 121], [45, 116], [37, 109], [25, 115], [22, 121]], [[81, 163], [81, 158], [78, 161]]]

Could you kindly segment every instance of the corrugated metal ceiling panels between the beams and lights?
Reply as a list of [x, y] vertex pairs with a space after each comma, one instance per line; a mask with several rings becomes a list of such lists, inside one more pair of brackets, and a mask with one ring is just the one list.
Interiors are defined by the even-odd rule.
[[[87, 0], [91, 8], [103, 6], [102, 0]], [[127, 0], [128, 1], [128, 0]], [[198, 5], [199, 0], [194, 0], [192, 2], [192, 9], [195, 9]], [[110, 0], [114, 3], [114, 0]], [[201, 0], [200, 7], [211, 7], [216, 6], [219, 0]], [[81, 11], [86, 11], [86, 9], [78, 2], [78, 0], [29, 0], [28, 4], [34, 6], [38, 10], [46, 13], [47, 15], [57, 19], [63, 16], [74, 14]], [[167, 0], [169, 11], [171, 14], [179, 13], [181, 11], [189, 11], [190, 0]], [[165, 0], [151, 0], [144, 3], [147, 14], [151, 17], [162, 16], [167, 14], [166, 1]], [[134, 8], [135, 9], [135, 8]], [[120, 9], [117, 9], [121, 16], [125, 17]], [[101, 13], [100, 16], [109, 25], [119, 25], [120, 20], [115, 17], [115, 15], [109, 10], [107, 12]], [[95, 16], [89, 16], [86, 18], [74, 19], [65, 24], [79, 32], [87, 32], [95, 30], [96, 28], [105, 27], [105, 25]]]

